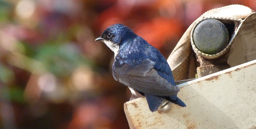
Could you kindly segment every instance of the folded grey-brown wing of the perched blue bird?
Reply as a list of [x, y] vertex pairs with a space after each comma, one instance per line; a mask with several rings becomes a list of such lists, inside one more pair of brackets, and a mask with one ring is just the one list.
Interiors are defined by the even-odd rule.
[[[170, 96], [180, 91], [179, 87], [171, 85], [167, 79], [160, 76], [154, 69], [156, 62], [145, 59], [137, 66], [123, 64], [113, 69], [113, 76], [126, 86], [129, 86], [142, 93]], [[163, 75], [166, 78], [168, 75]]]

